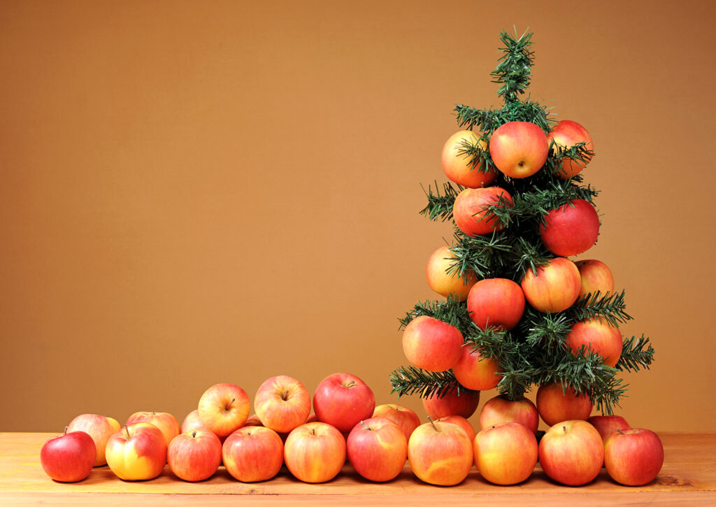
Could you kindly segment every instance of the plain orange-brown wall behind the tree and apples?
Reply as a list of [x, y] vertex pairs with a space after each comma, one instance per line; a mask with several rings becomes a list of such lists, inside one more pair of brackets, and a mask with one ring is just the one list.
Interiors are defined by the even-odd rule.
[[420, 183], [444, 179], [453, 104], [496, 105], [513, 25], [533, 97], [594, 137], [586, 257], [657, 349], [621, 413], [716, 430], [715, 9], [443, 4], [0, 1], [0, 430], [181, 419], [279, 374], [395, 402], [397, 317], [449, 237]]

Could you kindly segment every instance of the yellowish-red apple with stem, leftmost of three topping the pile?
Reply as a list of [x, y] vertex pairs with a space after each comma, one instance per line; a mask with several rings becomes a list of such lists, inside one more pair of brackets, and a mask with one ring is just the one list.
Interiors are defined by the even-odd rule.
[[216, 384], [199, 400], [199, 418], [207, 430], [219, 438], [231, 435], [248, 419], [251, 402], [246, 391], [233, 384]]

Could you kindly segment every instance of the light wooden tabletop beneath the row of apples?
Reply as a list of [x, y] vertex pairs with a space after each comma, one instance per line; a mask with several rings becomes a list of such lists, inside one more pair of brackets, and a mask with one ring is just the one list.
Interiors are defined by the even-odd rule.
[[605, 470], [586, 486], [561, 486], [547, 478], [539, 465], [518, 486], [494, 486], [474, 468], [458, 486], [430, 486], [417, 480], [407, 465], [389, 483], [365, 481], [346, 465], [337, 478], [323, 484], [301, 483], [285, 467], [271, 481], [253, 484], [235, 481], [223, 467], [201, 483], [180, 481], [168, 467], [152, 481], [126, 482], [106, 466], [92, 470], [84, 481], [66, 484], [48, 478], [39, 463], [40, 448], [52, 436], [0, 433], [0, 505], [716, 506], [716, 433], [659, 435], [664, 443], [664, 468], [656, 481], [639, 488], [619, 486]]

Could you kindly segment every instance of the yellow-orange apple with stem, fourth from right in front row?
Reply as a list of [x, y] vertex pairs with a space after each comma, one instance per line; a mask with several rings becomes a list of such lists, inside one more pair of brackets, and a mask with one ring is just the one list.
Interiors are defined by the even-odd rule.
[[420, 481], [453, 486], [465, 480], [473, 466], [473, 443], [463, 428], [449, 422], [418, 426], [407, 444], [410, 469]]

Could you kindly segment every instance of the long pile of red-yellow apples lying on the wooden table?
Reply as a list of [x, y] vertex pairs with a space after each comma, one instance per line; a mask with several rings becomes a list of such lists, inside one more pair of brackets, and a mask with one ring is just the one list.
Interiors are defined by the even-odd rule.
[[111, 417], [79, 415], [64, 435], [44, 444], [40, 461], [62, 482], [82, 481], [105, 464], [125, 481], [145, 481], [166, 463], [184, 481], [204, 481], [223, 462], [241, 482], [267, 481], [285, 464], [299, 480], [321, 483], [338, 475], [346, 459], [369, 481], [390, 481], [407, 458], [417, 478], [440, 486], [464, 481], [473, 463], [491, 483], [519, 483], [538, 455], [543, 470], [561, 483], [587, 483], [604, 462], [616, 481], [634, 486], [652, 481], [663, 461], [658, 436], [631, 429], [619, 416], [559, 422], [538, 445], [537, 409], [529, 400], [493, 398], [475, 435], [460, 415], [420, 424], [407, 407], [376, 407], [372, 390], [346, 373], [321, 381], [314, 414], [306, 387], [285, 375], [258, 388], [251, 417], [250, 405], [241, 387], [223, 383], [204, 392], [181, 426], [166, 412], [136, 412], [121, 428]]

